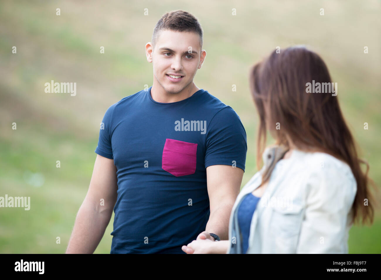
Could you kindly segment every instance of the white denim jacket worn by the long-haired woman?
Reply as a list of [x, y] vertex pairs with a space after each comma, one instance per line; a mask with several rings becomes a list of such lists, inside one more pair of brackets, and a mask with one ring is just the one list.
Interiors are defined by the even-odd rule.
[[[264, 166], [274, 149], [263, 154]], [[243, 187], [229, 220], [228, 254], [240, 254], [237, 212], [245, 195], [262, 181], [258, 171]], [[349, 166], [321, 153], [293, 150], [279, 160], [250, 224], [247, 253], [348, 253], [352, 204], [357, 184]]]

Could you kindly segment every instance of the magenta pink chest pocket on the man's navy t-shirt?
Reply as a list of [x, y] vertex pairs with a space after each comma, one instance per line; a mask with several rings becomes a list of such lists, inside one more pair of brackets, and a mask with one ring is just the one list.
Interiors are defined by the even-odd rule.
[[179, 177], [196, 172], [197, 144], [166, 139], [163, 149], [162, 168]]

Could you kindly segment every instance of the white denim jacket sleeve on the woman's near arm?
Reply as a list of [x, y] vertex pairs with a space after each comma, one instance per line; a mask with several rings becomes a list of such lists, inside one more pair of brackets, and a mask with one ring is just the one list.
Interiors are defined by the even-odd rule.
[[357, 184], [353, 174], [345, 171], [327, 164], [317, 167], [307, 179], [306, 209], [296, 253], [348, 253], [347, 218]]

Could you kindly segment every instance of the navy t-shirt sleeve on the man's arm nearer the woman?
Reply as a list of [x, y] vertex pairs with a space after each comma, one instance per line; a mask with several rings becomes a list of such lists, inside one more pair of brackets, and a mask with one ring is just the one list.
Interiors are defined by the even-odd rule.
[[219, 110], [207, 128], [205, 168], [231, 165], [245, 171], [246, 131], [237, 113], [228, 106]]

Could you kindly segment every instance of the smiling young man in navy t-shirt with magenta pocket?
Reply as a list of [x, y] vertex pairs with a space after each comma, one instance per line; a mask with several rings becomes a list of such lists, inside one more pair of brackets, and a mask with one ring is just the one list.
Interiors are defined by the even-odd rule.
[[206, 56], [197, 19], [164, 14], [146, 56], [153, 85], [107, 109], [66, 253], [93, 253], [113, 209], [110, 253], [185, 253], [196, 238], [228, 238], [246, 132], [231, 107], [193, 82]]

